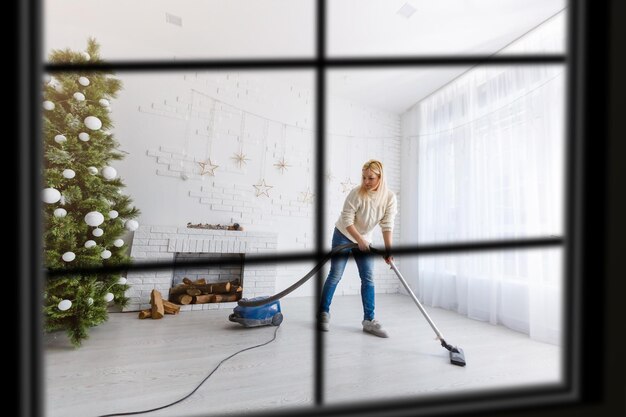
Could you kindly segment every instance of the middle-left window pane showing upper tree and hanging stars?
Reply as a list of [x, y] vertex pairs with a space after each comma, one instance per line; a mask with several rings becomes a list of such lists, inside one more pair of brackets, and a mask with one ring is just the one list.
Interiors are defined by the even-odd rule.
[[313, 253], [313, 80], [310, 71], [49, 77], [46, 266]]

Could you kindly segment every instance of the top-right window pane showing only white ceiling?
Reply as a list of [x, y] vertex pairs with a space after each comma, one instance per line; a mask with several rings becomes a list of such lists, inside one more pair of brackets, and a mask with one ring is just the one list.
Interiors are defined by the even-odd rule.
[[[564, 53], [564, 0], [333, 0], [328, 54], [350, 56]], [[523, 45], [513, 46], [530, 36]], [[510, 45], [510, 46], [509, 46]]]

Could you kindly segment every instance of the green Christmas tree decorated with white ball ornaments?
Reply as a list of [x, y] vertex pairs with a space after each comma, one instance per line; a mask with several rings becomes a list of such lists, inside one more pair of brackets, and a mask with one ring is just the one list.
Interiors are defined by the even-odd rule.
[[[54, 50], [51, 63], [97, 63], [99, 45], [84, 52]], [[135, 230], [139, 211], [122, 194], [111, 161], [123, 159], [109, 117], [110, 100], [122, 88], [111, 72], [46, 76], [43, 85], [43, 244], [45, 266], [67, 270], [50, 276], [44, 293], [45, 329], [66, 330], [76, 346], [88, 329], [124, 306], [129, 288], [116, 273], [77, 274], [77, 267], [128, 263], [125, 229]]]

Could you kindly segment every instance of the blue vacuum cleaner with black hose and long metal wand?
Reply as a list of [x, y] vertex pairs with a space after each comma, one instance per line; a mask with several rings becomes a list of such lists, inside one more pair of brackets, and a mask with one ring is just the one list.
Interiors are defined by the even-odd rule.
[[[262, 315], [262, 313], [261, 312], [257, 312], [255, 309], [257, 309], [257, 308], [259, 308], [261, 306], [270, 304], [270, 303], [277, 302], [280, 298], [284, 297], [285, 295], [289, 294], [290, 292], [292, 292], [293, 290], [295, 290], [296, 288], [298, 288], [299, 286], [304, 284], [313, 275], [315, 275], [322, 268], [322, 266], [324, 266], [324, 264], [326, 262], [328, 262], [328, 260], [334, 254], [336, 254], [336, 253], [338, 253], [338, 252], [340, 252], [340, 251], [342, 251], [344, 249], [357, 248], [358, 246], [359, 245], [357, 245], [356, 243], [347, 243], [345, 245], [340, 245], [340, 246], [337, 246], [337, 247], [333, 248], [332, 251], [330, 251], [328, 254], [326, 254], [324, 256], [324, 258], [317, 265], [315, 265], [315, 267], [311, 271], [309, 271], [304, 277], [302, 277], [298, 282], [296, 282], [291, 287], [288, 287], [285, 290], [283, 290], [283, 291], [281, 291], [281, 292], [279, 292], [279, 293], [277, 293], [275, 295], [255, 297], [255, 298], [251, 298], [251, 299], [242, 298], [241, 300], [239, 300], [237, 302], [238, 306], [235, 307], [235, 310], [237, 310], [239, 308], [248, 308], [248, 309], [247, 310], [240, 309], [237, 313], [231, 314], [231, 316], [235, 315], [235, 317], [231, 318], [230, 320], [231, 321], [238, 321], [239, 323], [243, 324], [244, 326], [245, 326], [245, 324], [241, 321], [242, 319], [250, 318], [252, 320], [256, 320], [255, 317], [257, 317], [257, 314], [261, 314]], [[380, 249], [376, 249], [376, 248], [374, 248], [372, 246], [370, 246], [370, 250], [373, 253], [375, 253], [375, 254], [382, 255], [384, 257], [387, 256], [386, 252], [381, 251]], [[413, 301], [415, 302], [415, 304], [417, 305], [419, 310], [422, 312], [422, 314], [426, 318], [426, 321], [428, 321], [428, 324], [430, 324], [430, 327], [433, 329], [433, 331], [437, 335], [437, 340], [439, 340], [441, 342], [441, 346], [443, 346], [445, 349], [448, 350], [448, 352], [450, 354], [450, 363], [452, 363], [453, 365], [457, 365], [457, 366], [465, 366], [465, 353], [463, 352], [463, 349], [461, 349], [460, 347], [457, 347], [457, 346], [450, 345], [450, 344], [448, 344], [446, 342], [445, 338], [443, 337], [443, 334], [439, 331], [439, 329], [437, 328], [437, 326], [435, 325], [433, 320], [430, 318], [430, 316], [428, 315], [428, 313], [426, 312], [426, 310], [422, 306], [422, 304], [419, 302], [419, 300], [417, 299], [417, 297], [415, 296], [415, 294], [413, 293], [413, 291], [409, 287], [409, 284], [406, 282], [406, 280], [404, 279], [404, 277], [402, 276], [402, 274], [400, 273], [400, 271], [396, 267], [395, 263], [393, 261], [390, 261], [389, 265], [391, 266], [391, 269], [393, 269], [393, 271], [396, 273], [396, 275], [398, 276], [398, 279], [400, 280], [400, 282], [402, 282], [402, 285], [404, 285], [404, 288], [407, 290], [407, 292], [409, 293], [409, 295], [411, 296], [411, 298], [413, 299]], [[280, 305], [278, 306], [278, 313], [280, 313]], [[240, 316], [236, 316], [237, 314], [239, 314]], [[237, 320], [235, 320], [235, 319], [237, 319]], [[267, 322], [267, 318], [265, 318], [263, 320], [265, 320], [265, 322]], [[271, 320], [270, 320], [270, 322], [271, 322]], [[280, 321], [278, 322], [278, 324], [275, 324], [275, 325], [279, 325], [280, 322], [282, 322], [282, 314], [280, 315]], [[263, 324], [259, 324], [259, 325], [263, 325]]]

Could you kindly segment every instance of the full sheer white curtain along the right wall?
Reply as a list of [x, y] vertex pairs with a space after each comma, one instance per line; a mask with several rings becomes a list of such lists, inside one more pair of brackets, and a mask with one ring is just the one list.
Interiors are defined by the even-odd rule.
[[[565, 81], [562, 65], [479, 67], [409, 111], [421, 244], [563, 235]], [[560, 344], [562, 255], [420, 257], [417, 290], [427, 305]]]

